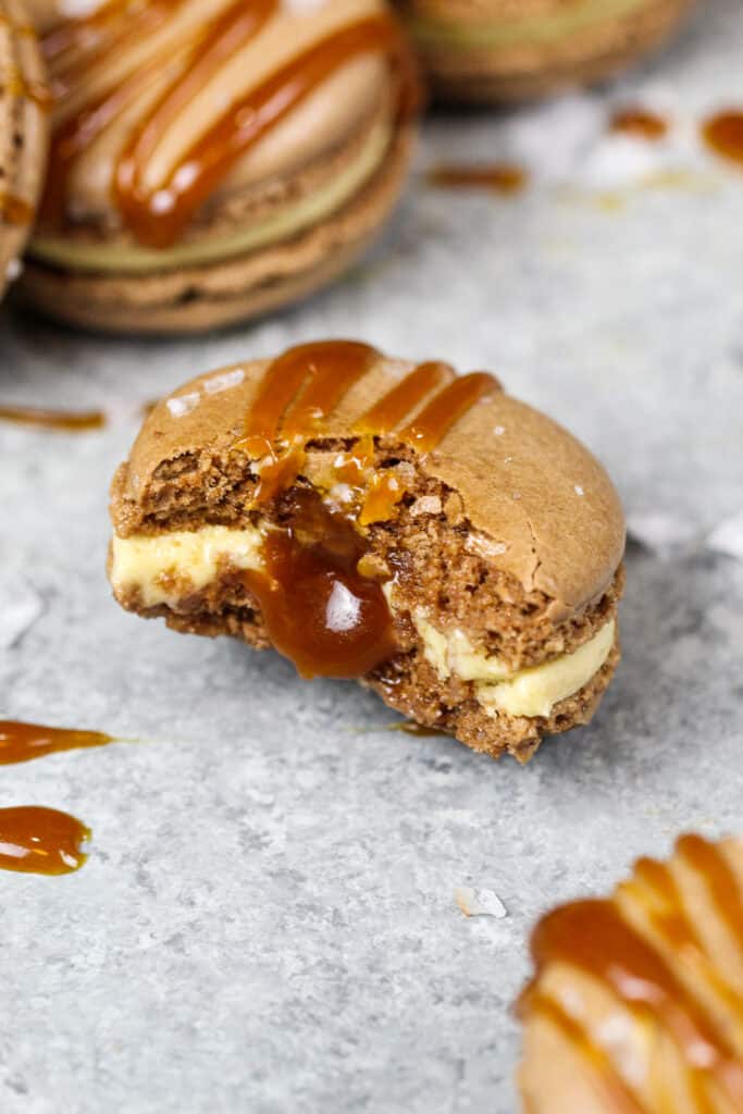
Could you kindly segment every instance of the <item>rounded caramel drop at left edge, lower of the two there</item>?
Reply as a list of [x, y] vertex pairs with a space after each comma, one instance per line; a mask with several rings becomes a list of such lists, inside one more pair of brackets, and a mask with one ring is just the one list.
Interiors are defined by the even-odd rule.
[[86, 861], [80, 847], [89, 839], [84, 823], [57, 809], [0, 809], [0, 870], [69, 874]]

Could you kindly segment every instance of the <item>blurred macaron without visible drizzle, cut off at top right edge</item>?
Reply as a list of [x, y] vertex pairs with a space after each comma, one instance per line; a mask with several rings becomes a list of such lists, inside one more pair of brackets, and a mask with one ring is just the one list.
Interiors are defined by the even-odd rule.
[[528, 100], [618, 74], [693, 0], [399, 0], [438, 95]]

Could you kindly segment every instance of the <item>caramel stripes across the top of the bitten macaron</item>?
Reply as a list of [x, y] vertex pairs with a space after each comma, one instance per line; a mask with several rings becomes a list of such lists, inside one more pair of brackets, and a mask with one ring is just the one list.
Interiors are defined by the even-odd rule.
[[[320, 341], [290, 349], [268, 365], [245, 418], [243, 437], [234, 447], [263, 461], [257, 504], [293, 482], [307, 443], [321, 434], [325, 420], [380, 358], [368, 344]], [[354, 422], [352, 433], [358, 441], [350, 453], [341, 455], [339, 481], [354, 475], [361, 480], [373, 469], [374, 437], [401, 427], [400, 440], [420, 453], [432, 452], [477, 402], [500, 390], [498, 380], [487, 372], [458, 378], [449, 364], [420, 364]], [[381, 520], [403, 495], [403, 488], [390, 487], [388, 477], [374, 475], [369, 498], [375, 511], [370, 518], [370, 507], [364, 508], [361, 525]]]

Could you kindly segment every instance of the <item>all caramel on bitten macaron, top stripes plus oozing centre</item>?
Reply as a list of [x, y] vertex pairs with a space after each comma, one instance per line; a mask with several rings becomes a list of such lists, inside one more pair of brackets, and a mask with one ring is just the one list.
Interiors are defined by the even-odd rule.
[[333, 480], [350, 485], [360, 506], [333, 509], [315, 490], [287, 490], [301, 475], [307, 446], [379, 358], [375, 349], [352, 341], [290, 349], [264, 372], [234, 446], [261, 461], [254, 506], [280, 498], [278, 528], [262, 548], [265, 573], [246, 571], [244, 583], [271, 642], [303, 676], [363, 676], [395, 651], [382, 587], [361, 571], [370, 567], [361, 531], [389, 520], [407, 489], [393, 469], [375, 468], [374, 436], [391, 432], [422, 407], [401, 437], [429, 451], [478, 399], [499, 389], [485, 373], [456, 379], [446, 364], [421, 364], [362, 416], [353, 448], [333, 462]]

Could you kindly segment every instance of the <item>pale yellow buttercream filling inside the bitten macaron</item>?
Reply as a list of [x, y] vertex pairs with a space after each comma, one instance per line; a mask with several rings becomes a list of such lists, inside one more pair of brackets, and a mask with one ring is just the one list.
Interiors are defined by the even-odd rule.
[[[115, 535], [110, 567], [114, 590], [117, 595], [136, 590], [144, 607], [177, 609], [185, 596], [214, 583], [224, 567], [260, 571], [267, 529], [205, 526], [154, 536]], [[385, 585], [384, 594], [394, 612], [392, 585]], [[608, 658], [616, 636], [616, 623], [610, 619], [573, 653], [514, 671], [477, 649], [463, 631], [439, 631], [422, 608], [412, 619], [424, 655], [441, 680], [456, 676], [472, 682], [478, 701], [491, 715], [529, 719], [548, 719], [557, 704], [588, 684]]]

